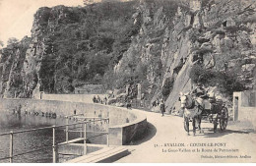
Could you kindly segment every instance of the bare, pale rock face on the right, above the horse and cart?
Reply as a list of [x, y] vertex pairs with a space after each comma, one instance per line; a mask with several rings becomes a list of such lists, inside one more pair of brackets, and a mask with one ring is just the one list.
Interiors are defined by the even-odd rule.
[[[141, 32], [133, 38], [115, 71], [127, 71], [126, 59], [134, 56], [129, 50], [137, 50], [137, 60], [148, 66], [150, 86], [145, 92], [152, 94], [151, 102], [164, 98], [167, 111], [177, 105], [179, 92], [191, 90], [198, 80], [190, 76], [195, 65], [209, 73], [234, 77], [235, 82], [243, 86], [226, 88], [226, 91], [253, 88], [255, 2], [188, 1], [168, 7], [141, 1], [138, 8], [138, 13], [144, 16]], [[173, 11], [175, 13], [169, 16]], [[205, 85], [215, 86], [213, 83]], [[221, 85], [219, 87], [220, 91], [226, 92]]]

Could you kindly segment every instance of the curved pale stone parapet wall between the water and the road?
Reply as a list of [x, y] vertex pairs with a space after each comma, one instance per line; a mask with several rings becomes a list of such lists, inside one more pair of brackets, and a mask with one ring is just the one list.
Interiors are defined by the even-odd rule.
[[37, 99], [0, 99], [0, 112], [21, 109], [21, 112], [55, 113], [57, 118], [84, 114], [86, 117], [109, 117], [109, 144], [122, 145], [140, 137], [146, 127], [147, 118], [136, 110], [109, 105]]

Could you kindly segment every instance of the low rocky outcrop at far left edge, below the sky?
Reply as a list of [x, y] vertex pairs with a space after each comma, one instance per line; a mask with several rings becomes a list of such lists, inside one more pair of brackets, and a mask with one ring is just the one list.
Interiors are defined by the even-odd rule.
[[0, 90], [4, 97], [22, 97], [24, 89], [24, 61], [31, 38], [24, 37], [20, 43], [13, 43], [1, 52]]

